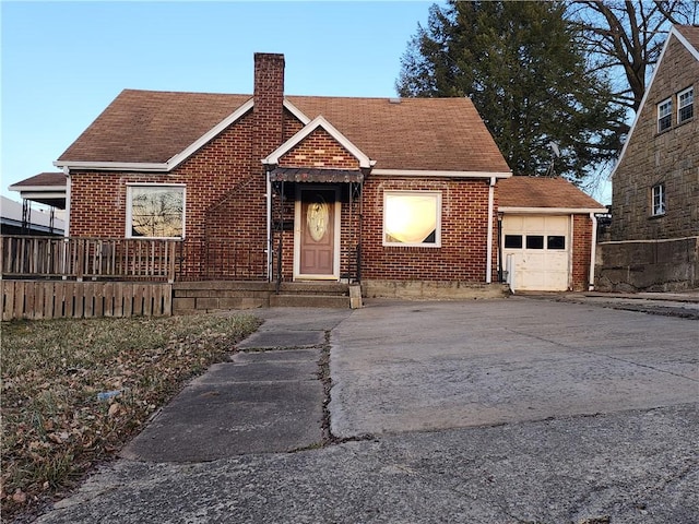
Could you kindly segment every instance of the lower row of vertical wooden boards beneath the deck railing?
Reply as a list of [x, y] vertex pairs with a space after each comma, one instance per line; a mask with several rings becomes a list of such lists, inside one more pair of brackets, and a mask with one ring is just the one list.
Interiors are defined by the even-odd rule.
[[173, 314], [173, 285], [140, 282], [0, 281], [2, 320]]

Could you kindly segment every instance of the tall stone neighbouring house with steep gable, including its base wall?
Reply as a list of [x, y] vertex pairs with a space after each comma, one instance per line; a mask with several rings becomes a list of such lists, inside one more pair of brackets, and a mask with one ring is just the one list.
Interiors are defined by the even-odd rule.
[[597, 286], [699, 287], [699, 26], [674, 26], [613, 172]]

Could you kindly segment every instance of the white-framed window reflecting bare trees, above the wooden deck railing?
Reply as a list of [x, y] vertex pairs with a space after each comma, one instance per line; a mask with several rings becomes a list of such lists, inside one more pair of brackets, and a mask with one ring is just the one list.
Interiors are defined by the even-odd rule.
[[127, 237], [182, 238], [183, 186], [128, 186]]

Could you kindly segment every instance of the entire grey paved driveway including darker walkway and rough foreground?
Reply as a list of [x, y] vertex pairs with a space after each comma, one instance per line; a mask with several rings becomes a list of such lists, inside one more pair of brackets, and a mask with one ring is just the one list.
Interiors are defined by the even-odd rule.
[[550, 297], [254, 313], [38, 522], [699, 522], [696, 320]]

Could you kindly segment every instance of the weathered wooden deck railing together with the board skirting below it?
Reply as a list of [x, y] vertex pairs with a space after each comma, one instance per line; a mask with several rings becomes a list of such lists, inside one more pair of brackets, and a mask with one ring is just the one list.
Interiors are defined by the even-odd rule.
[[179, 240], [0, 237], [2, 320], [173, 313]]

